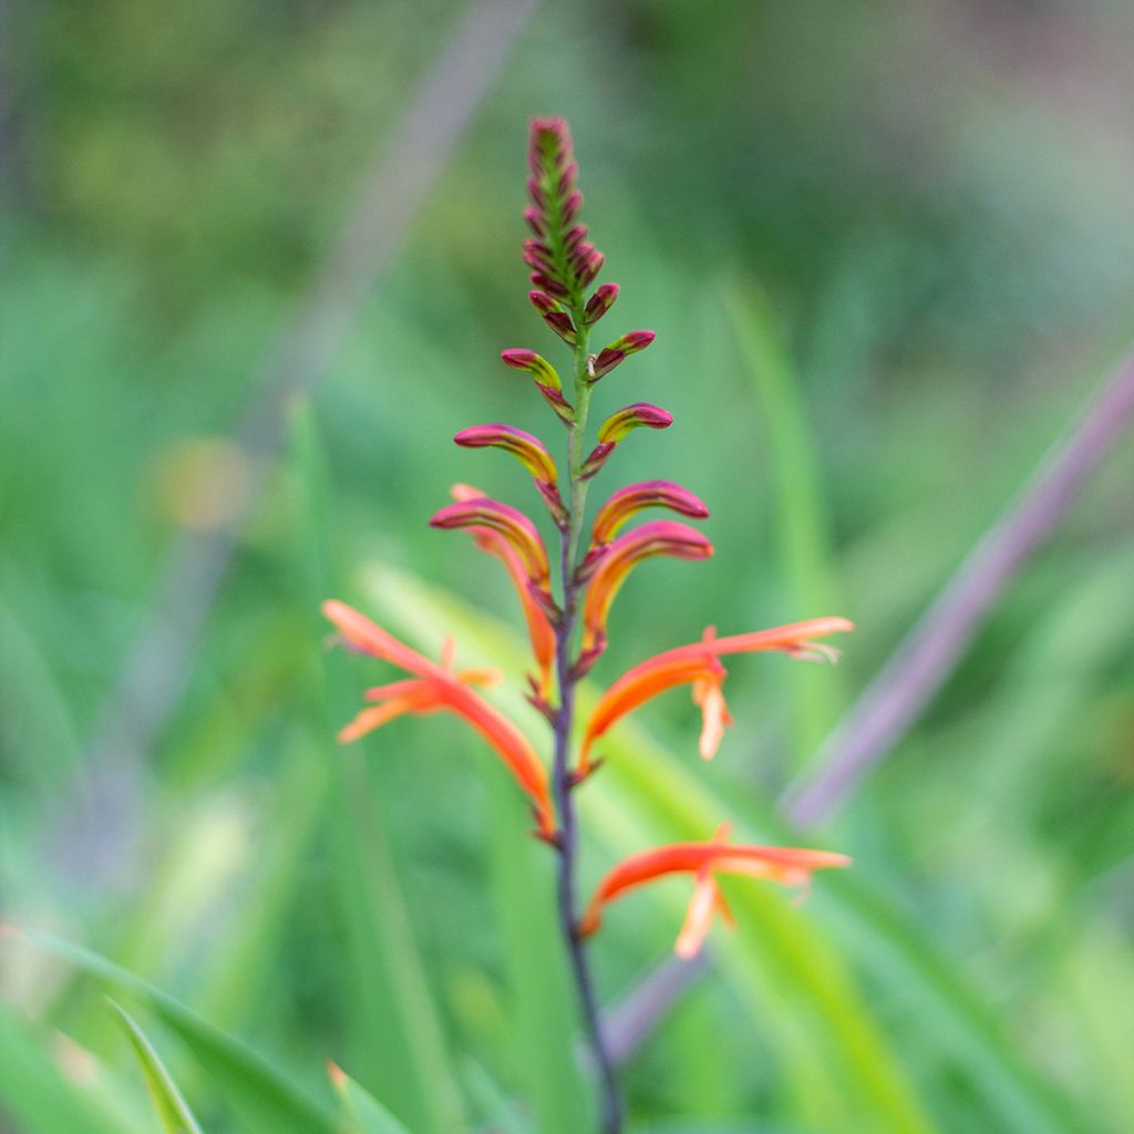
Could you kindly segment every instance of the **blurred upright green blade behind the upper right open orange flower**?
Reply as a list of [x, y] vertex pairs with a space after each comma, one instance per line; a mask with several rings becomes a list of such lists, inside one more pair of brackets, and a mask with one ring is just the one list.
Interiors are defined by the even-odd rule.
[[[838, 613], [822, 466], [803, 400], [802, 378], [776, 332], [767, 301], [755, 287], [736, 284], [722, 288], [721, 306], [768, 443], [775, 492], [773, 539], [787, 600], [784, 620]], [[846, 697], [840, 677], [828, 668], [793, 666], [785, 679], [793, 691], [795, 765], [801, 767], [838, 720]]]

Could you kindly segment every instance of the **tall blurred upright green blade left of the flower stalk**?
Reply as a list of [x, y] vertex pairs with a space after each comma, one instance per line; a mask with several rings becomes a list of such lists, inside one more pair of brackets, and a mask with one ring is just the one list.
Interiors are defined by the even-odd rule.
[[367, 1086], [417, 1134], [449, 1134], [464, 1125], [456, 1076], [449, 1064], [440, 1018], [414, 941], [397, 872], [376, 810], [365, 745], [348, 750], [335, 730], [357, 708], [357, 677], [342, 651], [319, 658], [327, 625], [320, 602], [339, 590], [329, 539], [327, 462], [311, 406], [293, 413], [294, 466], [302, 505], [301, 570], [311, 611], [311, 655], [320, 674], [313, 687], [322, 703], [313, 727], [325, 737], [323, 759], [332, 769], [329, 814], [333, 881], [347, 928], [348, 992], [344, 1006], [353, 1032], [352, 1059]]

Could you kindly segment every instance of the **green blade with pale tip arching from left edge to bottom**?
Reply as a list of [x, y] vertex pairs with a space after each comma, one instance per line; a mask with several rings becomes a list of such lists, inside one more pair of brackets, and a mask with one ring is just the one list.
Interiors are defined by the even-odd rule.
[[141, 976], [50, 933], [32, 929], [15, 929], [12, 933], [16, 939], [144, 1001], [180, 1036], [249, 1129], [272, 1131], [272, 1134], [338, 1134], [333, 1115], [280, 1070]]

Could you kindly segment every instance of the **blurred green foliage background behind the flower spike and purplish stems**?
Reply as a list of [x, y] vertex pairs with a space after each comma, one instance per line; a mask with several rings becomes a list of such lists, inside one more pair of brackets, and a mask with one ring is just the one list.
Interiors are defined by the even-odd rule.
[[[449, 438], [555, 435], [497, 358], [557, 357], [519, 263], [526, 122], [553, 112], [623, 287], [603, 328], [658, 331], [599, 407], [676, 417], [606, 486], [687, 484], [717, 544], [636, 575], [595, 686], [706, 623], [860, 627], [837, 670], [736, 659], [712, 765], [674, 695], [589, 787], [587, 879], [728, 816], [856, 861], [798, 909], [736, 889], [739, 931], [626, 1069], [635, 1128], [1129, 1129], [1128, 441], [847, 806], [793, 836], [772, 802], [1134, 330], [1134, 8], [544, 3], [281, 412], [264, 359], [467, 11], [0, 5], [2, 916], [175, 998], [92, 979], [53, 939], [0, 941], [0, 1128], [159, 1128], [108, 989], [209, 1131], [332, 1128], [328, 1058], [414, 1134], [586, 1128], [522, 801], [449, 719], [339, 751], [379, 670], [325, 659], [315, 615], [333, 593], [523, 671], [497, 566], [425, 519], [456, 480], [536, 507], [509, 462]], [[278, 417], [270, 465], [234, 440]], [[188, 593], [161, 579], [179, 541], [234, 523], [194, 642], [176, 618], [208, 565]], [[170, 610], [143, 677], [187, 642], [188, 667], [135, 752], [108, 705]], [[127, 734], [147, 730], [144, 683], [142, 704]], [[685, 892], [611, 911], [607, 1001], [665, 959]]]

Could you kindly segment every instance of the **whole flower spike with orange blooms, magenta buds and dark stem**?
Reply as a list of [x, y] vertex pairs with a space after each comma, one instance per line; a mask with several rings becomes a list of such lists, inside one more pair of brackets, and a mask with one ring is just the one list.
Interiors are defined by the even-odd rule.
[[[618, 287], [601, 284], [587, 295], [603, 257], [587, 240], [586, 227], [579, 223], [583, 197], [575, 184], [577, 166], [562, 119], [533, 121], [528, 161], [532, 205], [525, 219], [533, 239], [524, 243], [524, 261], [532, 269], [531, 280], [536, 288], [528, 298], [572, 352], [569, 389], [565, 391], [555, 366], [534, 350], [513, 348], [502, 352], [501, 358], [513, 370], [531, 375], [565, 426], [566, 476], [539, 438], [513, 425], [474, 425], [462, 430], [455, 440], [465, 448], [502, 449], [519, 460], [550, 513], [558, 556], [549, 555], [539, 527], [524, 513], [467, 484], [454, 488], [454, 502], [441, 508], [430, 523], [441, 530], [466, 528], [481, 550], [503, 562], [516, 587], [535, 661], [535, 671], [528, 676], [528, 699], [551, 726], [550, 773], [538, 746], [474, 692], [473, 686], [489, 684], [497, 675], [458, 670], [454, 648], [448, 643], [441, 661], [433, 662], [344, 603], [328, 602], [324, 611], [345, 645], [411, 675], [370, 689], [366, 699], [373, 703], [340, 731], [340, 739], [356, 739], [403, 716], [448, 711], [484, 738], [527, 796], [535, 818], [534, 833], [558, 856], [559, 925], [599, 1082], [601, 1129], [603, 1134], [619, 1134], [623, 1100], [602, 1034], [585, 943], [599, 930], [603, 908], [657, 879], [692, 874], [693, 898], [676, 942], [679, 955], [692, 956], [704, 941], [714, 915], [731, 922], [717, 886], [718, 873], [799, 886], [807, 882], [812, 871], [845, 866], [849, 860], [826, 850], [733, 844], [722, 828], [703, 843], [670, 844], [631, 855], [607, 872], [584, 905], [578, 896], [582, 846], [575, 792], [601, 764], [594, 747], [627, 713], [668, 689], [688, 685], [694, 704], [701, 709], [700, 751], [708, 760], [733, 723], [725, 703], [721, 657], [778, 651], [795, 658], [833, 660], [835, 651], [815, 640], [852, 627], [843, 618], [819, 618], [726, 637], [718, 637], [710, 627], [700, 641], [640, 662], [613, 682], [584, 723], [578, 755], [574, 755], [576, 689], [607, 649], [610, 610], [628, 575], [653, 556], [704, 559], [713, 549], [700, 532], [676, 519], [653, 519], [623, 531], [646, 508], [665, 508], [692, 521], [709, 515], [692, 492], [663, 480], [616, 491], [599, 509], [589, 536], [584, 535], [589, 488], [616, 447], [633, 430], [666, 429], [672, 417], [659, 406], [633, 403], [603, 422], [598, 443], [590, 447], [587, 421], [596, 383], [626, 358], [649, 347], [654, 335], [629, 331], [592, 352], [592, 332], [613, 306]], [[616, 386], [620, 382], [615, 380]]]

